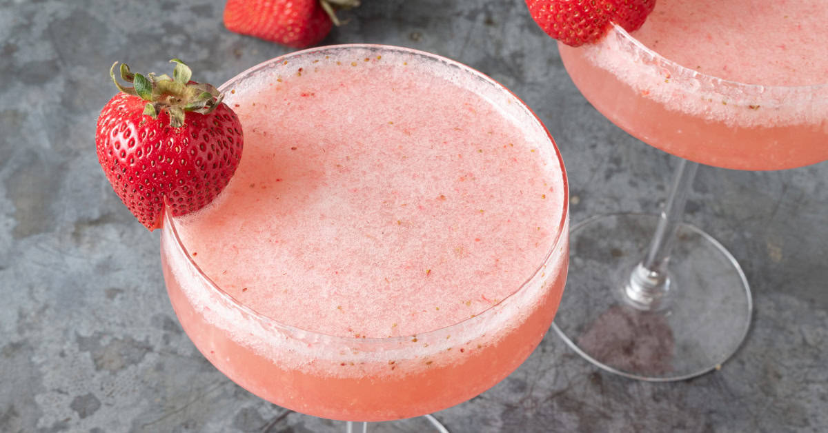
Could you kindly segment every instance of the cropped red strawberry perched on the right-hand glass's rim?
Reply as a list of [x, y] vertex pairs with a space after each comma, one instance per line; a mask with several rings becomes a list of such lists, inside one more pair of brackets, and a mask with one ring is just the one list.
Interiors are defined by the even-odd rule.
[[526, 0], [532, 19], [568, 46], [599, 41], [613, 23], [636, 31], [656, 0]]

